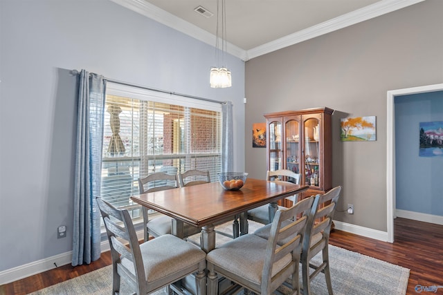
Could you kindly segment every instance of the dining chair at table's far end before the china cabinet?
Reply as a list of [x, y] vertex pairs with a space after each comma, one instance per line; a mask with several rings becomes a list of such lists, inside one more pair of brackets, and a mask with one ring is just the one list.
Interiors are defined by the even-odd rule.
[[[266, 180], [273, 180], [275, 182], [292, 182], [295, 184], [300, 183], [300, 174], [287, 169], [281, 169], [277, 171], [266, 171]], [[287, 200], [291, 200], [295, 204], [298, 200], [298, 194], [288, 197]], [[278, 206], [278, 209], [284, 207]], [[269, 204], [262, 205], [260, 207], [248, 210], [248, 220], [260, 222], [263, 225], [268, 225], [272, 222], [273, 213], [270, 211]]]

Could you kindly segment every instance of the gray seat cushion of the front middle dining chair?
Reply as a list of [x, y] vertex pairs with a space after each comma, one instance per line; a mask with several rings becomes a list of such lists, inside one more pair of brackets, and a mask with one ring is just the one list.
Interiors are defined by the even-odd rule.
[[[247, 234], [213, 249], [207, 254], [206, 260], [222, 269], [228, 269], [235, 276], [260, 285], [267, 243], [263, 238]], [[284, 256], [273, 266], [272, 276], [291, 262], [291, 254]]]

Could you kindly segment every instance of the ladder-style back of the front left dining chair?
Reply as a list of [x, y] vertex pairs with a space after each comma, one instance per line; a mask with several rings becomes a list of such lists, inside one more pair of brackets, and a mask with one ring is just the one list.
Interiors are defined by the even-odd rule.
[[[96, 198], [96, 200], [105, 223], [109, 246], [111, 247], [114, 274], [124, 275], [125, 278], [129, 279], [130, 285], [138, 289], [136, 286], [141, 285], [139, 282], [145, 282], [146, 277], [141, 250], [131, 216], [126, 209], [116, 209], [116, 207], [100, 197]], [[121, 263], [123, 258], [132, 263], [129, 267], [134, 267], [135, 276], [132, 274], [131, 269], [128, 268], [127, 263]], [[114, 285], [116, 283], [114, 281]], [[119, 281], [118, 285], [120, 285]]]

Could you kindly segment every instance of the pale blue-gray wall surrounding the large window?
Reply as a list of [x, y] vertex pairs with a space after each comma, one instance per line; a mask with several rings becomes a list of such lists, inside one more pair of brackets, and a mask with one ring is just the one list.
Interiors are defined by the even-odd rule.
[[[233, 101], [244, 171], [244, 61], [213, 89], [214, 49], [109, 0], [0, 1], [0, 272], [72, 249], [75, 87], [71, 69]], [[67, 238], [57, 239], [59, 225]], [[49, 263], [52, 265], [53, 263]]]

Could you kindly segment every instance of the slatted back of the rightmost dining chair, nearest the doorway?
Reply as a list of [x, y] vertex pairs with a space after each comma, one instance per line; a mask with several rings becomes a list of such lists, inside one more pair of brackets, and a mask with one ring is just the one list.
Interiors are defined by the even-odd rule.
[[306, 255], [308, 261], [329, 243], [332, 218], [340, 192], [341, 187], [334, 187], [327, 193], [315, 197], [302, 249], [302, 255]]

